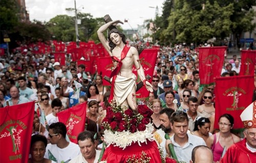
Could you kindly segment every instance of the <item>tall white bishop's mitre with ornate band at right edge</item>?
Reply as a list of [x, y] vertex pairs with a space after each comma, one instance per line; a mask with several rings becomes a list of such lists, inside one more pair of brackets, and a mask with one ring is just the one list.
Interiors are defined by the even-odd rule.
[[240, 115], [244, 128], [256, 128], [256, 101], [252, 102]]

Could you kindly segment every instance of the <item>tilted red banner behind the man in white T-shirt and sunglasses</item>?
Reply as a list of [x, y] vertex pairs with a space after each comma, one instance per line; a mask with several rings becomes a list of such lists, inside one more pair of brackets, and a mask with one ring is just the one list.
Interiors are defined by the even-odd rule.
[[87, 102], [83, 102], [57, 113], [59, 122], [64, 123], [67, 127], [67, 135], [70, 141], [76, 144], [77, 135], [84, 130], [86, 124], [86, 106]]

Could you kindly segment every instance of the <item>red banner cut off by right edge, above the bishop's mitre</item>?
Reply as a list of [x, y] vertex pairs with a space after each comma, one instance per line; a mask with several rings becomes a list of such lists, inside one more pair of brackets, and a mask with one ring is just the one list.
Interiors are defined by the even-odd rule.
[[239, 75], [253, 75], [256, 64], [256, 50], [242, 50]]

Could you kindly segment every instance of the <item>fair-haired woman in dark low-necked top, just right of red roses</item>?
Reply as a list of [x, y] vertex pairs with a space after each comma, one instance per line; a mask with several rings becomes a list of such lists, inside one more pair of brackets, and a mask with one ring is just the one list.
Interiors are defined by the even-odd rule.
[[152, 123], [153, 123], [153, 126], [154, 126], [154, 131], [153, 133], [160, 129], [160, 111], [162, 110], [162, 105], [161, 105], [161, 101], [159, 99], [154, 99], [152, 101], [152, 111], [154, 112], [153, 115], [151, 116], [152, 118]]

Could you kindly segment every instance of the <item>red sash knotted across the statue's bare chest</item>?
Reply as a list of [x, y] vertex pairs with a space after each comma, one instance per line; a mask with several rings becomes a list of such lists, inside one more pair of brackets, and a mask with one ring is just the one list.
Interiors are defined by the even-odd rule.
[[119, 60], [117, 57], [114, 57], [114, 56], [111, 57], [112, 60], [115, 60], [115, 61], [117, 61], [118, 63], [117, 63], [116, 68], [115, 68], [115, 69], [112, 71], [112, 73], [110, 74], [110, 78], [113, 77], [113, 79], [112, 79], [112, 86], [111, 86], [111, 93], [110, 93], [109, 102], [111, 102], [111, 100], [112, 100], [113, 97], [114, 97], [114, 87], [115, 87], [116, 75], [117, 75], [117, 73], [120, 71], [120, 69], [121, 69], [121, 67], [122, 67], [122, 65], [123, 65], [122, 60], [126, 57], [127, 52], [129, 51], [129, 49], [130, 49], [130, 46], [125, 45], [125, 46], [123, 47], [123, 50], [122, 50], [122, 52], [121, 52], [121, 59], [120, 59], [120, 60]]

